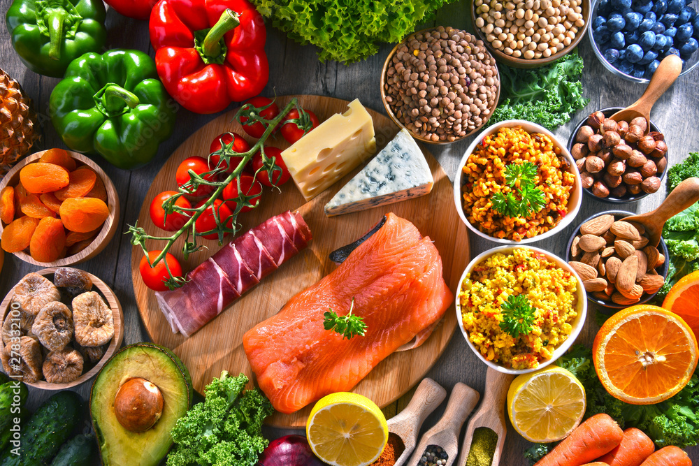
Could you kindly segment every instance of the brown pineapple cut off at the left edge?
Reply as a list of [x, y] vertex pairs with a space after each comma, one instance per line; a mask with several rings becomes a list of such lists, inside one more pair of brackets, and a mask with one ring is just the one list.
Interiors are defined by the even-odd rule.
[[0, 68], [0, 180], [27, 155], [38, 134], [31, 99], [20, 84]]

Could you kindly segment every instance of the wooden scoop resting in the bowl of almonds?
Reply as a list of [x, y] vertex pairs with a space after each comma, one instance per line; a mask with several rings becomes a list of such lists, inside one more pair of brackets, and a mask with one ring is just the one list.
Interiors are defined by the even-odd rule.
[[699, 178], [687, 178], [678, 184], [655, 210], [647, 214], [624, 217], [623, 220], [642, 224], [646, 228], [648, 244], [658, 247], [665, 222], [697, 201], [699, 201]]

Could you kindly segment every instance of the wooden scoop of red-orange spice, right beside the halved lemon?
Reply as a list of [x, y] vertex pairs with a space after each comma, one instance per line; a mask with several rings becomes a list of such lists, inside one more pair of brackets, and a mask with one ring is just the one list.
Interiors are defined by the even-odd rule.
[[415, 450], [417, 435], [425, 418], [447, 398], [447, 391], [432, 379], [423, 379], [417, 386], [415, 395], [408, 406], [388, 421], [389, 432], [401, 437], [405, 450], [396, 460], [395, 466], [402, 466]]

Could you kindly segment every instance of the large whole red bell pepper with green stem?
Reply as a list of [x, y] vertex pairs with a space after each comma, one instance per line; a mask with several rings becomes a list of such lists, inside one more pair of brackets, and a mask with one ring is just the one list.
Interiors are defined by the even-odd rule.
[[160, 0], [149, 26], [158, 75], [187, 110], [220, 112], [267, 84], [264, 22], [247, 0]]

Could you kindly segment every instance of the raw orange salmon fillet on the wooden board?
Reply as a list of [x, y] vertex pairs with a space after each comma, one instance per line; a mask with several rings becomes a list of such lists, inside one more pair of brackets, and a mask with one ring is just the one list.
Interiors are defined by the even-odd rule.
[[[353, 314], [367, 330], [351, 340], [323, 326], [330, 309]], [[442, 259], [410, 221], [387, 221], [315, 285], [275, 316], [245, 333], [243, 346], [257, 382], [282, 413], [329, 393], [351, 390], [378, 363], [432, 326], [454, 296], [442, 278]]]

